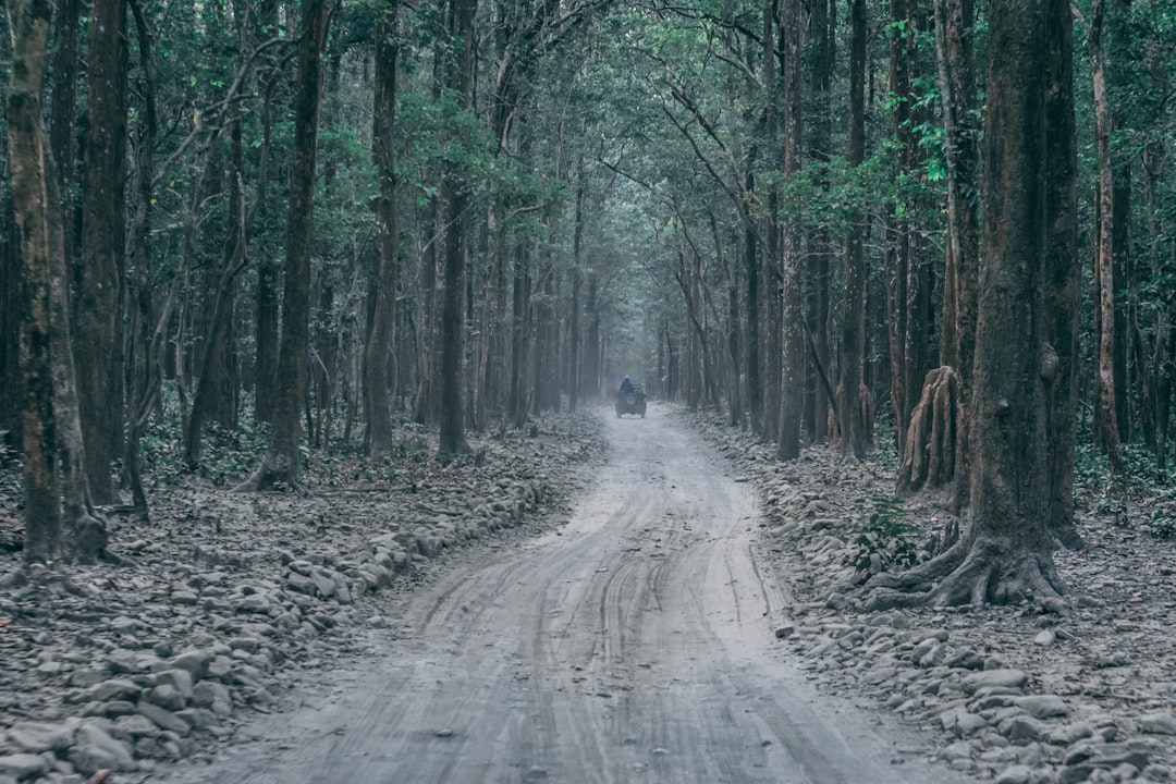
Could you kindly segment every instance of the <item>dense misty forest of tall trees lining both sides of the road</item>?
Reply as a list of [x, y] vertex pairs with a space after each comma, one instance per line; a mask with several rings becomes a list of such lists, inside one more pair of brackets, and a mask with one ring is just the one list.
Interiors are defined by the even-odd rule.
[[967, 530], [880, 605], [1064, 592], [1075, 471], [1170, 481], [1170, 0], [7, 0], [0, 24], [26, 559], [100, 556], [161, 451], [200, 473], [247, 437], [239, 489], [299, 490], [305, 454], [386, 460], [414, 422], [461, 455], [623, 375], [781, 461], [887, 453], [896, 491], [949, 494]]

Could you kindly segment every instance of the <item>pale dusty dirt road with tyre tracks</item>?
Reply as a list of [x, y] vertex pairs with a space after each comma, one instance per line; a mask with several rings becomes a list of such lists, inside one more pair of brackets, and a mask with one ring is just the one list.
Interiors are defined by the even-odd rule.
[[567, 524], [448, 570], [301, 708], [261, 718], [214, 765], [153, 780], [955, 780], [793, 668], [754, 494], [717, 455], [657, 407], [608, 416], [608, 435]]

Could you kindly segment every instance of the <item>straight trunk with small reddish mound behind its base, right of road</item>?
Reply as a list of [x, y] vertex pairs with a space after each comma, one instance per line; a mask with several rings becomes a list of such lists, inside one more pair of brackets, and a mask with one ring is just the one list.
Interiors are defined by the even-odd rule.
[[[849, 7], [849, 165], [866, 160], [866, 0]], [[841, 454], [866, 460], [866, 428], [862, 417], [862, 367], [866, 360], [866, 253], [862, 242], [864, 216], [854, 214], [846, 240], [846, 294], [841, 333], [841, 383], [837, 414], [841, 422]]]

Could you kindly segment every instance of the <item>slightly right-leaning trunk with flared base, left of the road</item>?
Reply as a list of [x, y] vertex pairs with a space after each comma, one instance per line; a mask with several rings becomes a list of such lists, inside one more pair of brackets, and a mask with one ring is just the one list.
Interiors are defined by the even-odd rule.
[[322, 102], [322, 53], [330, 26], [329, 0], [302, 6], [298, 92], [294, 106], [294, 160], [286, 229], [286, 280], [278, 362], [278, 408], [261, 464], [239, 490], [298, 488], [299, 430], [310, 348], [310, 242], [314, 227], [315, 148]]

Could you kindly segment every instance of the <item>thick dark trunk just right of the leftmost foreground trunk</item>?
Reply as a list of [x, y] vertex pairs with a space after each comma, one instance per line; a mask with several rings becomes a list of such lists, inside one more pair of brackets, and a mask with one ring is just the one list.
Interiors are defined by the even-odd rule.
[[89, 20], [89, 125], [82, 266], [74, 350], [86, 474], [99, 504], [114, 502], [111, 467], [122, 444], [122, 289], [127, 182], [127, 2], [95, 0]]

